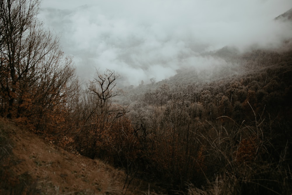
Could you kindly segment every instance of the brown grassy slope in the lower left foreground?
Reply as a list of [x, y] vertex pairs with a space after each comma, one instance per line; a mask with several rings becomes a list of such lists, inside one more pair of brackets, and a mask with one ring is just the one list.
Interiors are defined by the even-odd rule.
[[124, 172], [3, 119], [0, 151], [0, 194], [124, 194]]

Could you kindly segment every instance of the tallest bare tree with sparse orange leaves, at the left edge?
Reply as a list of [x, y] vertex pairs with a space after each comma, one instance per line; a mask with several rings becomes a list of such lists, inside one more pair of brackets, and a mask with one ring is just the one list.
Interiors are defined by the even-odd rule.
[[74, 95], [72, 58], [37, 19], [39, 4], [0, 1], [0, 103], [8, 118], [41, 119]]

